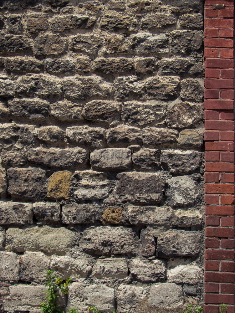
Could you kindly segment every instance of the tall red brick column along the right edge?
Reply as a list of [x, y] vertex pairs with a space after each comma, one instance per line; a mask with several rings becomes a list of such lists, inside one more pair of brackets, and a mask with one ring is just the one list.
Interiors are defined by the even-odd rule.
[[233, 7], [205, 0], [205, 313], [235, 311]]

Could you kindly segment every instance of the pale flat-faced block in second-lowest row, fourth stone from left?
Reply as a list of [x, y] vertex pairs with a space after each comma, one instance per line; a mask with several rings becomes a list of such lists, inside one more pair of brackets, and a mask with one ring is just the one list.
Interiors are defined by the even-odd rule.
[[128, 276], [127, 262], [123, 258], [97, 259], [92, 275], [99, 280], [123, 279]]

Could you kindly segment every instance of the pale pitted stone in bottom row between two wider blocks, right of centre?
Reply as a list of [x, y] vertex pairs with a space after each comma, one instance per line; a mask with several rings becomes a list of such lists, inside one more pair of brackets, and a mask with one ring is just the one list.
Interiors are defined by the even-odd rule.
[[117, 311], [137, 313], [138, 303], [144, 300], [146, 295], [145, 286], [121, 284], [116, 291]]

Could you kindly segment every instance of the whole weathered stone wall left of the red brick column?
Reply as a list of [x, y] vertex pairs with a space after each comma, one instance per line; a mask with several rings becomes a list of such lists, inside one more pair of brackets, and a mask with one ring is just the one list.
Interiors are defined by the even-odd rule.
[[4, 310], [201, 303], [203, 2], [0, 4]]

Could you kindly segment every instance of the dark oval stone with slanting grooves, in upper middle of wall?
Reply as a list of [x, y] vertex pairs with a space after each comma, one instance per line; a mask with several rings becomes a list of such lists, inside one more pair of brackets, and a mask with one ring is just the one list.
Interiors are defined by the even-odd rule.
[[113, 101], [92, 100], [84, 105], [82, 115], [86, 120], [111, 123], [120, 119], [120, 108]]

